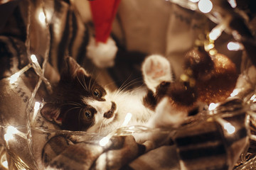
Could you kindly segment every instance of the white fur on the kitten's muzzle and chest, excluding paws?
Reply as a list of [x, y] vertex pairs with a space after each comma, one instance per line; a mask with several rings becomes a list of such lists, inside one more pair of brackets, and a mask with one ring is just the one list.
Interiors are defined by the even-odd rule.
[[[127, 113], [132, 113], [132, 119], [129, 121], [128, 126], [146, 125], [153, 111], [149, 111], [142, 104], [142, 98], [145, 94], [145, 89], [126, 92], [107, 91], [106, 101], [86, 101], [98, 112], [95, 114], [95, 125], [89, 128], [87, 132], [99, 132], [101, 135], [107, 135], [121, 127]], [[111, 101], [117, 104], [117, 109], [112, 118], [104, 118], [103, 114], [111, 108]]]

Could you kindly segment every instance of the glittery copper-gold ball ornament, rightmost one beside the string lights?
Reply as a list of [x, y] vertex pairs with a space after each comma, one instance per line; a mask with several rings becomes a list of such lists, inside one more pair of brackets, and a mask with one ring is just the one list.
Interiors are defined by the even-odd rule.
[[235, 64], [227, 56], [217, 53], [213, 63], [214, 69], [196, 79], [198, 100], [208, 104], [228, 98], [238, 79]]

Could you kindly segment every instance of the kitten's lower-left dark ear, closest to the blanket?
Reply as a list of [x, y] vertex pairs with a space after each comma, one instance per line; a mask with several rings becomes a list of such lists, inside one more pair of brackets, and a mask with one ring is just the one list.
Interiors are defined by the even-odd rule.
[[57, 125], [62, 124], [61, 119], [59, 119], [60, 108], [53, 103], [46, 103], [41, 109], [41, 115], [43, 118], [46, 118], [46, 120], [49, 120], [50, 122], [53, 122]]

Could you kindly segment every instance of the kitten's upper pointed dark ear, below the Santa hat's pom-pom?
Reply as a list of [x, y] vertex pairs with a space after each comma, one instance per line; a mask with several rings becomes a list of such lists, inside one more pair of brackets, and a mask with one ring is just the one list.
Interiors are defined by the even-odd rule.
[[74, 79], [75, 77], [86, 76], [90, 77], [85, 69], [83, 69], [78, 62], [76, 62], [73, 57], [65, 57], [63, 64], [63, 69], [61, 72], [60, 79]]

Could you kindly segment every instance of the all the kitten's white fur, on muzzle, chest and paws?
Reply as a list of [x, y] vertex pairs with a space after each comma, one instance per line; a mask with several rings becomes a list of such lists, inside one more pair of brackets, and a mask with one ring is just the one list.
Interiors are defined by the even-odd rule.
[[[162, 81], [172, 81], [169, 61], [159, 55], [147, 57], [142, 65], [142, 72], [146, 85], [154, 92], [156, 86]], [[149, 128], [166, 128], [178, 127], [183, 123], [186, 113], [175, 110], [168, 97], [160, 101], [154, 112], [144, 106], [142, 100], [145, 95], [146, 89], [142, 88], [126, 92], [107, 91], [106, 101], [86, 101], [98, 112], [95, 114], [95, 125], [89, 128], [88, 132], [99, 132], [101, 135], [107, 135], [121, 127], [127, 113], [132, 113], [132, 119], [127, 126], [144, 125]], [[103, 114], [110, 110], [111, 101], [117, 104], [117, 110], [112, 118], [107, 119], [103, 117]], [[151, 138], [150, 135], [146, 134], [134, 134], [134, 137], [137, 142]]]

